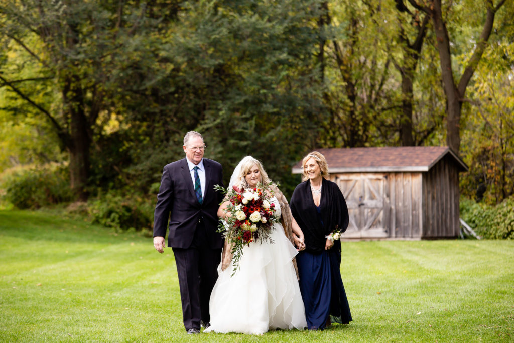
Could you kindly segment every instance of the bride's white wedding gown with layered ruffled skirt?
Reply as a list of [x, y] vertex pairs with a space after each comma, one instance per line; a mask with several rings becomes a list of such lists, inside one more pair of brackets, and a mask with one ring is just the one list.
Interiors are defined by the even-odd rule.
[[[280, 206], [271, 198], [280, 216]], [[204, 333], [237, 332], [259, 335], [268, 330], [307, 326], [300, 287], [292, 264], [298, 254], [280, 224], [273, 224], [273, 242], [250, 243], [243, 248], [239, 269], [232, 262], [218, 266], [218, 279], [209, 302], [211, 326]]]

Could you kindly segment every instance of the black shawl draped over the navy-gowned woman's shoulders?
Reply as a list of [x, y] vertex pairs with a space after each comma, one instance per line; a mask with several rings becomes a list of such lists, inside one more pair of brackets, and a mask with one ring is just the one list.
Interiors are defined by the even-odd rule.
[[344, 232], [348, 227], [348, 208], [339, 187], [325, 178], [322, 180], [321, 220], [318, 217], [310, 181], [298, 185], [292, 193], [291, 212], [305, 236], [305, 250], [321, 252], [325, 249], [325, 236], [336, 228]]

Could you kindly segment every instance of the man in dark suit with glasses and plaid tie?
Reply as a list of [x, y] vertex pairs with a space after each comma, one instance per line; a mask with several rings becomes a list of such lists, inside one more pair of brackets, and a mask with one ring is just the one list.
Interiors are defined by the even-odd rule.
[[164, 166], [154, 214], [154, 247], [162, 253], [170, 219], [168, 247], [173, 248], [180, 285], [183, 323], [188, 334], [209, 327], [209, 298], [217, 279], [223, 238], [216, 232], [216, 212], [223, 194], [223, 168], [204, 158], [204, 138], [184, 137], [186, 157]]

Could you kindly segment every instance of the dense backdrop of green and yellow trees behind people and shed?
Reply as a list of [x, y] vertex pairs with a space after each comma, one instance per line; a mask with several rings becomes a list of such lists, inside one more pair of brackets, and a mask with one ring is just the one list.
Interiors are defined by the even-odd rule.
[[512, 14], [511, 0], [5, 0], [0, 168], [65, 161], [78, 198], [146, 194], [197, 130], [226, 174], [251, 154], [290, 194], [315, 148], [448, 145], [471, 167], [464, 193], [501, 201]]

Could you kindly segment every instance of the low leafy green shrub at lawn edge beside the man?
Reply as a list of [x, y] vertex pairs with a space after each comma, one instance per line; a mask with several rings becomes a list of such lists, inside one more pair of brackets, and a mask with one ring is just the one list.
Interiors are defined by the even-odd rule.
[[121, 230], [151, 230], [153, 203], [137, 195], [108, 193], [87, 203], [87, 212], [93, 224]]

